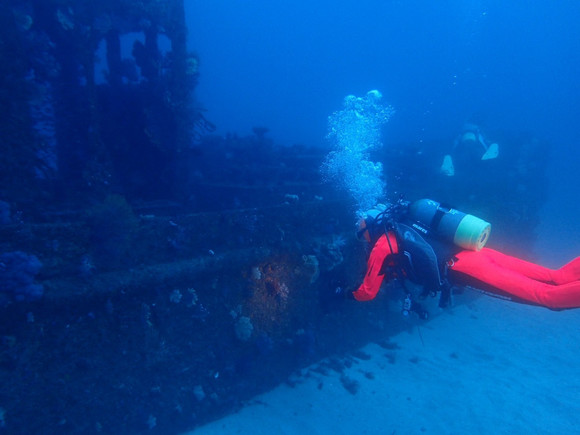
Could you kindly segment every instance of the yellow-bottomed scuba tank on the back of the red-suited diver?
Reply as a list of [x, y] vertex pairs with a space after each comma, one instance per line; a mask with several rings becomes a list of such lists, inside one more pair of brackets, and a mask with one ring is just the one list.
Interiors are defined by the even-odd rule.
[[[443, 207], [430, 199], [411, 203], [408, 216], [418, 224], [426, 226], [435, 236], [472, 251], [481, 250], [491, 232], [489, 222], [453, 208]], [[424, 228], [414, 227], [425, 232]]]

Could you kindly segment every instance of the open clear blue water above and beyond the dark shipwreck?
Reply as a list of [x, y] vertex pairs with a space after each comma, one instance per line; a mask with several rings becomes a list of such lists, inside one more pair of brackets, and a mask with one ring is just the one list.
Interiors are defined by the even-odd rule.
[[[282, 144], [330, 147], [328, 116], [379, 89], [399, 142], [450, 143], [467, 121], [526, 131], [554, 153], [539, 238], [556, 265], [580, 246], [580, 3], [564, 0], [186, 2], [201, 58], [198, 103], [218, 133], [267, 126]], [[576, 216], [576, 217], [575, 217]], [[573, 245], [572, 247], [570, 247]]]

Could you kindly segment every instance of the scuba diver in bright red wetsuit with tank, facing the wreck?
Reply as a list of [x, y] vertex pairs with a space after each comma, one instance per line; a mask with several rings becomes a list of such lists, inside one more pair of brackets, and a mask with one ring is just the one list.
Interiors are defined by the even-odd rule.
[[357, 236], [371, 247], [363, 283], [345, 295], [372, 300], [385, 278], [395, 278], [406, 291], [403, 313], [421, 318], [429, 314], [407, 290], [407, 279], [422, 285], [419, 298], [439, 293], [440, 307], [465, 287], [554, 310], [580, 307], [580, 257], [548, 269], [485, 248], [490, 231], [484, 220], [429, 199], [379, 204], [359, 222]]

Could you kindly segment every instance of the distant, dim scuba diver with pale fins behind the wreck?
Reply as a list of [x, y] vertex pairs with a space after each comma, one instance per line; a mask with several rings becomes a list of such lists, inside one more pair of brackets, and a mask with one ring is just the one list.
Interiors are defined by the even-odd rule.
[[497, 143], [488, 144], [477, 125], [465, 124], [455, 139], [453, 150], [443, 157], [439, 171], [449, 177], [455, 175], [456, 168], [470, 173], [478, 162], [495, 159], [498, 155]]

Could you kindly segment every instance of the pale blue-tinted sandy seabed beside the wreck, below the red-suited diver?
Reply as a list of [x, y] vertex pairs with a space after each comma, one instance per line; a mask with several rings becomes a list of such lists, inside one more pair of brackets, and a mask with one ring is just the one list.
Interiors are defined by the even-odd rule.
[[481, 296], [419, 325], [191, 433], [580, 434], [580, 310]]

